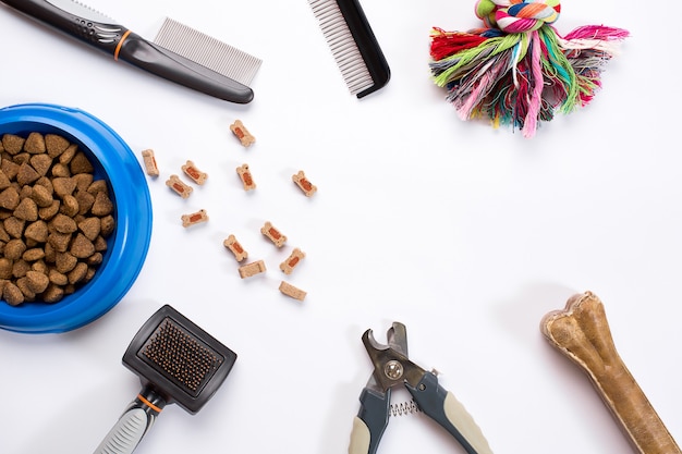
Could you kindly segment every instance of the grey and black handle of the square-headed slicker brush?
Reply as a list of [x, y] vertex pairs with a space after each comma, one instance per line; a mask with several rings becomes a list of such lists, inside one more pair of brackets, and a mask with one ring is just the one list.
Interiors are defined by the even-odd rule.
[[163, 397], [150, 389], [144, 389], [125, 408], [95, 454], [130, 454], [135, 451], [165, 406]]

